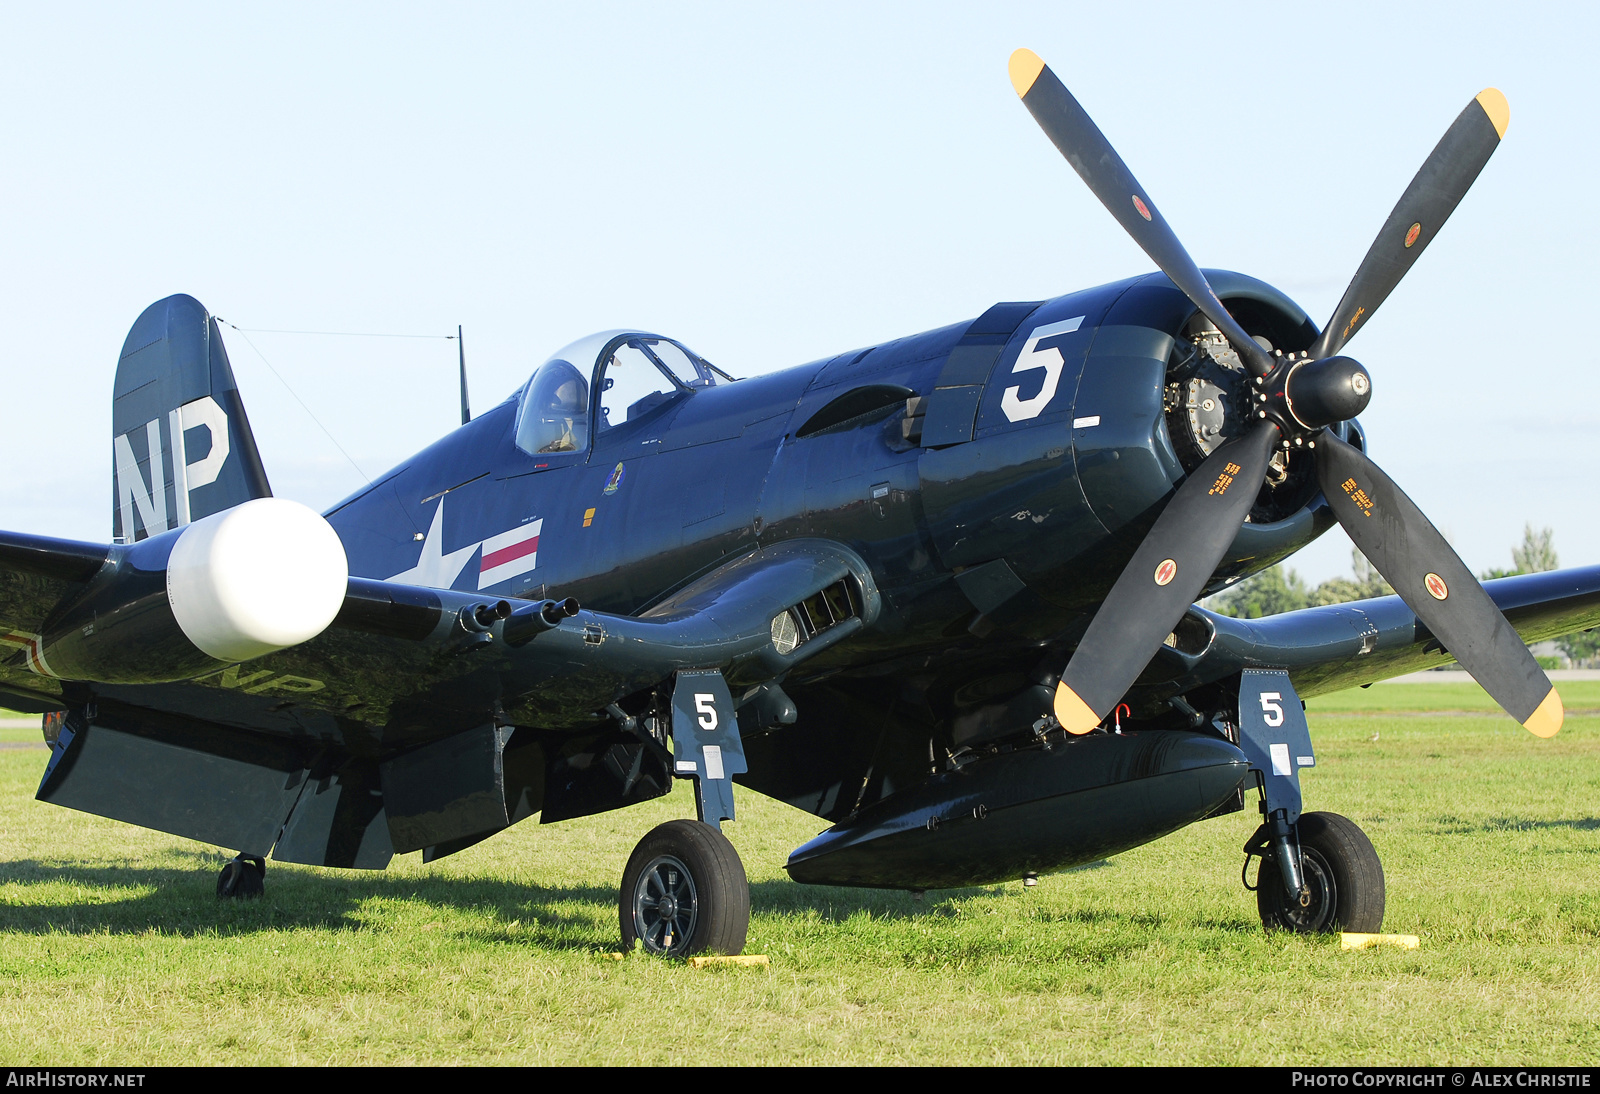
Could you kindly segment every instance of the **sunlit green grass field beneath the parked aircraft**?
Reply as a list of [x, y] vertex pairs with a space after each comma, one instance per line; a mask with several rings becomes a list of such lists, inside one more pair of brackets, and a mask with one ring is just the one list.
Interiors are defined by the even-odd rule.
[[[1568, 709], [1600, 710], [1587, 683]], [[35, 803], [46, 753], [0, 749], [0, 1064], [1594, 1065], [1600, 715], [1536, 741], [1485, 704], [1310, 704], [1307, 805], [1373, 838], [1414, 952], [1264, 934], [1253, 803], [1035, 889], [915, 900], [787, 881], [824, 825], [744, 793], [771, 964], [693, 969], [605, 956], [626, 857], [693, 816], [682, 790], [426, 867], [272, 864], [264, 899], [221, 904], [214, 848]]]

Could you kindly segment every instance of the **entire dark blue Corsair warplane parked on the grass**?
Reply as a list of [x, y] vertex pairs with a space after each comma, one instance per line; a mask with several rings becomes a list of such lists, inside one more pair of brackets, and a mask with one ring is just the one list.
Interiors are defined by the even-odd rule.
[[[1600, 568], [1480, 585], [1363, 454], [1339, 357], [1506, 130], [1467, 104], [1318, 331], [1202, 274], [1056, 75], [1024, 104], [1162, 274], [731, 382], [606, 331], [318, 517], [274, 499], [216, 321], [139, 317], [114, 544], [0, 534], [0, 702], [46, 713], [38, 798], [264, 857], [382, 868], [694, 781], [624, 944], [738, 953], [733, 782], [832, 824], [798, 881], [987, 884], [1261, 793], [1267, 926], [1376, 931], [1382, 867], [1301, 813], [1301, 696], [1450, 659], [1528, 729], [1528, 654]], [[1238, 621], [1197, 597], [1341, 523], [1397, 597]]]

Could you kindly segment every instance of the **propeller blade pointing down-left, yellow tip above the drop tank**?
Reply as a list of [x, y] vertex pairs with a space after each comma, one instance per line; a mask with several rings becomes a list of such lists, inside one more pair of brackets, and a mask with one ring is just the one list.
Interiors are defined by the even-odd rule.
[[1061, 673], [1054, 709], [1067, 733], [1098, 726], [1189, 611], [1256, 502], [1277, 438], [1274, 422], [1258, 422], [1166, 502]]

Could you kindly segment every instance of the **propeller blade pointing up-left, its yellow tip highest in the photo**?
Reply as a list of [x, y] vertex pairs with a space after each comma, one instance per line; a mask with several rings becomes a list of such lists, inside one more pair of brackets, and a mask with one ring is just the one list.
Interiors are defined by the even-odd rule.
[[1162, 274], [1170, 277], [1173, 285], [1194, 301], [1194, 305], [1216, 325], [1216, 329], [1222, 331], [1222, 336], [1243, 358], [1251, 376], [1266, 376], [1272, 368], [1272, 358], [1227, 313], [1222, 301], [1216, 297], [1210, 281], [1205, 280], [1205, 274], [1194, 264], [1189, 251], [1168, 227], [1166, 218], [1155, 208], [1144, 187], [1133, 178], [1128, 165], [1110, 147], [1110, 141], [1085, 114], [1056, 74], [1050, 70], [1050, 66], [1040, 61], [1032, 50], [1018, 50], [1011, 54], [1011, 86], [1022, 98], [1022, 106], [1034, 115], [1038, 128], [1054, 142], [1067, 163], [1083, 176], [1083, 181], [1094, 190], [1094, 197], [1110, 210], [1110, 214], [1133, 237], [1133, 242], [1144, 248]]

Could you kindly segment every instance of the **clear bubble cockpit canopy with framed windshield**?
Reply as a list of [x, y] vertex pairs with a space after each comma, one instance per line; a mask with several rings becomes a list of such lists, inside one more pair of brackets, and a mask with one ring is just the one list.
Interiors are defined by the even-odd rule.
[[696, 389], [731, 379], [682, 342], [659, 334], [590, 334], [533, 371], [517, 408], [517, 448], [530, 456], [582, 451], [589, 446], [590, 424], [600, 435], [643, 421]]

